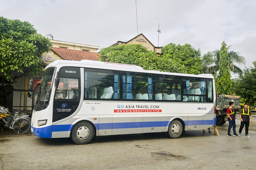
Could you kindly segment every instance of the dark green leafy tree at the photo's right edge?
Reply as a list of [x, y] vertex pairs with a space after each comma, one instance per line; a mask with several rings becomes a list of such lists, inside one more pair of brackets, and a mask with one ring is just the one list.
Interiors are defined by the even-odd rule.
[[243, 70], [243, 74], [239, 76], [240, 80], [235, 85], [236, 95], [244, 98], [250, 106], [256, 101], [256, 61], [253, 61], [253, 65], [254, 67]]

